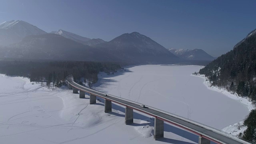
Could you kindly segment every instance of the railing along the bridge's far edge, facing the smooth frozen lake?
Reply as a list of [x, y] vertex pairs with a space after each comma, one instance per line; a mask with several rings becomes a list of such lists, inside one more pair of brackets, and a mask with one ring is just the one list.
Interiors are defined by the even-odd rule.
[[[74, 80], [74, 79], [72, 78], [72, 80]], [[79, 84], [78, 84], [78, 85], [79, 85]], [[84, 87], [84, 86], [83, 86], [83, 87]], [[86, 87], [84, 87], [84, 88], [86, 88]], [[90, 88], [88, 88], [88, 89], [90, 89]], [[93, 90], [93, 89], [90, 89], [90, 90]], [[96, 91], [96, 90], [93, 90], [93, 91]], [[100, 92], [100, 91], [96, 91], [96, 92]], [[106, 94], [106, 93], [103, 93], [103, 92], [100, 92], [100, 93]], [[121, 97], [118, 97], [118, 96], [114, 96], [114, 95], [111, 95], [111, 94], [108, 94], [108, 96], [112, 96], [112, 97], [114, 97], [114, 98], [118, 98], [118, 99], [120, 99], [120, 100], [124, 100], [124, 101], [130, 102], [130, 103], [133, 103], [133, 104], [137, 104], [137, 105], [141, 105], [141, 104], [142, 104], [142, 103], [139, 103], [139, 102], [134, 102], [134, 101], [132, 101], [132, 100], [128, 100], [128, 99], [126, 99], [126, 98], [121, 98]], [[142, 104], [142, 105], [145, 105], [145, 104]], [[218, 133], [218, 134], [222, 134], [222, 135], [224, 135], [224, 136], [230, 137], [230, 138], [232, 138], [232, 139], [234, 139], [234, 140], [237, 140], [238, 142], [242, 142], [242, 143], [245, 143], [245, 144], [251, 144], [251, 143], [249, 143], [249, 142], [246, 142], [245, 140], [241, 140], [240, 138], [237, 138], [236, 136], [234, 136], [234, 135], [232, 135], [232, 134], [229, 134], [229, 133], [224, 132], [224, 131], [222, 131], [222, 130], [218, 130], [218, 129], [213, 128], [213, 127], [211, 127], [211, 126], [207, 126], [206, 124], [202, 124], [202, 123], [200, 123], [200, 122], [196, 122], [196, 121], [194, 121], [194, 120], [190, 120], [190, 119], [188, 119], [188, 118], [184, 118], [184, 117], [182, 117], [182, 116], [178, 116], [178, 115], [176, 115], [176, 114], [172, 114], [172, 113], [170, 113], [170, 112], [166, 112], [166, 111], [164, 111], [164, 110], [160, 110], [160, 109], [158, 109], [158, 108], [154, 108], [154, 107], [152, 107], [152, 106], [148, 106], [148, 105], [145, 105], [145, 106], [147, 106], [148, 108], [150, 108], [150, 109], [152, 109], [152, 110], [156, 110], [156, 111], [158, 111], [158, 112], [162, 112], [162, 113], [164, 113], [164, 114], [168, 114], [168, 115], [170, 115], [170, 116], [173, 116], [173, 117], [175, 117], [175, 118], [179, 118], [179, 119], [184, 120], [184, 121], [186, 121], [186, 122], [190, 122], [190, 123], [195, 124], [195, 125], [197, 125], [197, 126], [200, 126], [200, 127], [202, 127], [202, 128], [206, 128], [206, 129], [211, 130], [211, 131], [213, 131], [213, 132], [216, 132], [216, 133]]]

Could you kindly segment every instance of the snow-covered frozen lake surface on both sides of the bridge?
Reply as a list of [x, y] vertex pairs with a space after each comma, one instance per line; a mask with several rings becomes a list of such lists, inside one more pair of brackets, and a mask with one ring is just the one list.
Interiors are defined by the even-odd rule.
[[[94, 89], [144, 103], [221, 129], [241, 121], [246, 105], [209, 90], [191, 76], [200, 66], [146, 65], [114, 75], [101, 73]], [[90, 105], [65, 86], [51, 90], [27, 78], [0, 74], [0, 142], [3, 144], [172, 143], [194, 144], [198, 136], [165, 124], [164, 138], [153, 140], [154, 120], [134, 111], [134, 124], [124, 124], [124, 108], [104, 100]]]

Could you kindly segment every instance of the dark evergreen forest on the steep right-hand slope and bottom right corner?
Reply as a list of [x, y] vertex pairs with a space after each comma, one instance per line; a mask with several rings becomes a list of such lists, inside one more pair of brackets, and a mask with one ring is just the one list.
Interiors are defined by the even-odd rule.
[[[223, 54], [199, 71], [204, 74], [213, 86], [232, 91], [238, 96], [256, 100], [256, 34], [239, 42], [233, 50]], [[245, 121], [248, 126], [242, 138], [255, 142], [255, 110]]]

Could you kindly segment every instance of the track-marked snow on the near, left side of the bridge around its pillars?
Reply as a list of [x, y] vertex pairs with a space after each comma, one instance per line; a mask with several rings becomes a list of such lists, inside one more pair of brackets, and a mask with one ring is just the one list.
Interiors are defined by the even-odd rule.
[[[48, 89], [28, 78], [0, 75], [0, 141], [3, 144], [171, 143], [194, 144], [198, 136], [165, 124], [165, 138], [153, 140], [154, 119], [134, 112], [124, 124], [124, 107], [104, 100], [89, 104], [65, 86]], [[175, 132], [175, 133], [173, 133]], [[182, 136], [186, 136], [183, 138]]]

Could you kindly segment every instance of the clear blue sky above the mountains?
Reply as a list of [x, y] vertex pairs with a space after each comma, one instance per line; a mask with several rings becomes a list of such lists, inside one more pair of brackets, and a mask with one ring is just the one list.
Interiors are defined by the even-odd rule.
[[0, 23], [10, 20], [106, 41], [140, 32], [166, 48], [220, 56], [256, 28], [256, 1], [0, 0]]

